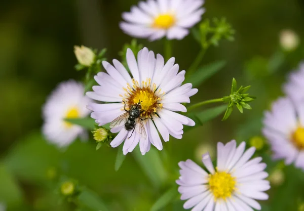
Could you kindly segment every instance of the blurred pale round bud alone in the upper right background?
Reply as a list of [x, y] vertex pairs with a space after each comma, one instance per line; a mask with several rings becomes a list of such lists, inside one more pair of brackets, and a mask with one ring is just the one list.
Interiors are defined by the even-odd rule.
[[300, 39], [294, 31], [285, 29], [280, 32], [280, 44], [285, 51], [295, 50], [299, 42]]

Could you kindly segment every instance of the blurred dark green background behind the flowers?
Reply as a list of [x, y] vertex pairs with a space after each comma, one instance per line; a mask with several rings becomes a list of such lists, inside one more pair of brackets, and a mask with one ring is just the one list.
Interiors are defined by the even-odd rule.
[[[206, 1], [203, 19], [226, 17], [236, 34], [235, 41], [223, 40], [219, 47], [208, 49], [203, 64], [217, 60], [227, 63], [199, 87], [192, 102], [229, 95], [233, 77], [239, 85], [251, 85], [249, 93], [257, 100], [251, 103], [251, 111], [240, 114], [235, 110], [224, 122], [218, 117], [186, 132], [182, 140], [171, 137], [171, 143], [164, 143], [164, 148], [173, 153], [170, 158], [165, 152], [161, 155], [165, 160], [162, 184], [153, 182], [137, 164], [136, 156], [130, 154], [119, 172], [115, 172], [117, 150], [104, 146], [96, 151], [94, 141], [76, 141], [65, 150], [47, 144], [40, 133], [41, 106], [46, 97], [60, 81], [84, 78], [84, 72], [73, 68], [77, 64], [73, 46], [107, 48], [108, 60], [120, 59], [118, 52], [132, 39], [119, 28], [121, 13], [137, 2], [11, 0], [0, 3], [0, 204], [7, 210], [74, 210], [74, 205], [60, 200], [56, 184], [51, 182], [54, 175], [64, 175], [90, 188], [109, 210], [149, 210], [178, 178], [178, 161], [190, 158], [199, 162], [200, 155], [208, 147], [212, 150], [218, 141], [263, 140], [260, 134], [263, 111], [282, 95], [286, 75], [304, 58], [302, 0]], [[284, 29], [294, 31], [300, 40], [291, 50], [280, 44]], [[163, 53], [163, 40], [149, 43], [139, 39], [138, 42]], [[181, 41], [174, 40], [173, 46], [173, 56], [181, 69], [187, 69], [200, 50], [191, 35]], [[270, 162], [268, 170], [275, 171], [278, 163]], [[300, 185], [292, 183], [289, 174], [290, 178], [304, 178], [300, 170], [284, 169], [281, 183], [270, 191], [271, 198], [264, 202], [262, 210], [301, 208], [304, 191], [300, 187], [304, 181], [301, 179]], [[284, 199], [279, 194], [282, 190], [284, 196], [294, 194], [294, 197]], [[176, 198], [161, 210], [183, 210], [183, 202]]]

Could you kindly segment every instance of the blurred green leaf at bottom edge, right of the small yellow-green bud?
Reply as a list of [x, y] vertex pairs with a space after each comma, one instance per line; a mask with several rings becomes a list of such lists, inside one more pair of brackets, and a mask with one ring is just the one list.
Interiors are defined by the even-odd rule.
[[78, 202], [81, 206], [90, 208], [92, 210], [109, 211], [105, 203], [99, 198], [99, 196], [91, 190], [84, 188], [78, 196]]

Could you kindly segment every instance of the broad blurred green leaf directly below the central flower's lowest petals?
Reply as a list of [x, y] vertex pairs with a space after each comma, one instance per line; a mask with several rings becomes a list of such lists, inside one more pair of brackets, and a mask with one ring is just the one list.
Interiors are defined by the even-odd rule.
[[159, 151], [155, 147], [151, 147], [150, 151], [142, 155], [139, 146], [137, 146], [132, 154], [155, 187], [160, 187], [167, 180], [168, 173], [163, 165]]

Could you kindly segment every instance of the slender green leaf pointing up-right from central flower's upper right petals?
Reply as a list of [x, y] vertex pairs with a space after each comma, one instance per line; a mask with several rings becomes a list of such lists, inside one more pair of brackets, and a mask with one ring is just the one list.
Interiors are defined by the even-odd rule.
[[199, 87], [206, 79], [214, 75], [226, 65], [226, 61], [216, 61], [200, 67], [195, 73], [186, 78], [185, 83], [192, 83], [193, 87]]

